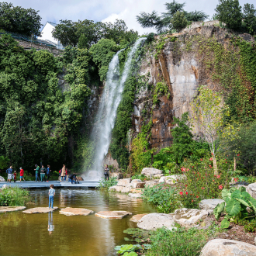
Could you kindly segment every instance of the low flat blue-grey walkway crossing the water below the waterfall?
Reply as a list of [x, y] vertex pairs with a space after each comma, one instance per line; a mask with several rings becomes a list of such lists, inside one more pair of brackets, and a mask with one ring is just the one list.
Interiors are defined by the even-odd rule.
[[79, 184], [71, 184], [71, 182], [59, 182], [59, 181], [49, 181], [49, 182], [0, 182], [0, 188], [4, 184], [11, 187], [20, 187], [24, 189], [49, 189], [50, 184], [54, 184], [55, 188], [75, 188], [75, 189], [85, 189], [85, 188], [95, 188], [99, 185], [99, 182], [79, 182]]

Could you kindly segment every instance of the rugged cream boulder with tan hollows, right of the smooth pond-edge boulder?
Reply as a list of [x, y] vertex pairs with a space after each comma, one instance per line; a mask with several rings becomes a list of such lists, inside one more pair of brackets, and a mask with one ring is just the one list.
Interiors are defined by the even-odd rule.
[[199, 220], [204, 220], [209, 215], [206, 209], [176, 209], [175, 213], [169, 214], [173, 216], [176, 223], [182, 227], [193, 227], [197, 225]]

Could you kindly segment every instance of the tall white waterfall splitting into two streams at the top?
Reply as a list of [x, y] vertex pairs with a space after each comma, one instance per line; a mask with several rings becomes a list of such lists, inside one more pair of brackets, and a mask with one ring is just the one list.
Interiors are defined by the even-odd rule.
[[133, 55], [136, 53], [140, 43], [146, 38], [139, 38], [128, 54], [126, 63], [123, 68], [123, 74], [119, 79], [119, 53], [120, 50], [109, 64], [106, 85], [102, 93], [102, 99], [99, 103], [99, 110], [95, 119], [95, 127], [93, 128], [92, 141], [95, 144], [95, 157], [92, 164], [92, 170], [88, 171], [85, 178], [99, 180], [102, 177], [102, 162], [108, 153], [111, 141], [112, 129], [115, 125], [116, 111], [122, 99], [123, 87], [130, 73]]

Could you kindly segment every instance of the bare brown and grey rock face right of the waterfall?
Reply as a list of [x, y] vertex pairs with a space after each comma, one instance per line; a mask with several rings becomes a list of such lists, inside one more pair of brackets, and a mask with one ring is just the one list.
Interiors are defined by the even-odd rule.
[[[176, 38], [175, 41], [173, 41], [173, 36]], [[191, 42], [195, 36], [202, 36], [204, 39], [213, 37], [217, 42], [225, 45], [229, 43], [233, 35], [218, 26], [199, 26], [189, 29], [189, 31], [186, 29], [183, 33], [166, 36], [166, 43], [164, 43], [160, 54], [155, 48], [157, 42], [163, 41], [163, 38], [156, 36], [153, 50], [148, 50], [142, 61], [140, 75], [147, 76], [148, 83], [153, 87], [150, 90], [142, 88], [136, 97], [133, 112], [133, 137], [136, 137], [137, 133], [140, 132], [145, 121], [143, 112], [147, 108], [147, 112], [151, 112], [151, 114], [147, 116], [146, 123], [150, 118], [153, 120], [151, 148], [158, 147], [160, 150], [163, 147], [171, 146], [170, 131], [173, 116], [181, 117], [184, 112], [189, 112], [189, 116], [191, 116], [190, 103], [197, 95], [199, 85], [207, 85], [213, 90], [219, 87], [216, 82], [213, 82], [209, 71], [203, 64], [204, 56], [198, 50], [188, 50], [188, 47], [193, 47]], [[239, 36], [244, 40], [254, 40], [248, 34]], [[154, 106], [152, 102], [154, 88], [157, 82], [161, 81], [164, 81], [168, 86], [170, 97], [161, 96], [159, 98], [160, 103]], [[200, 136], [196, 126], [194, 132]]]

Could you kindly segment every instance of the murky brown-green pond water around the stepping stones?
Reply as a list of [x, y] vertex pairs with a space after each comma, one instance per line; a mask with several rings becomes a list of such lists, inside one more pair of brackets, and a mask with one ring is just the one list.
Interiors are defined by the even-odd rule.
[[[36, 204], [48, 206], [48, 190], [31, 190]], [[94, 212], [126, 210], [133, 214], [154, 213], [153, 206], [127, 195], [103, 192], [98, 189], [56, 189], [54, 206], [60, 209], [78, 207]], [[126, 244], [123, 230], [134, 227], [130, 217], [106, 220], [89, 216], [65, 216], [59, 210], [53, 213], [27, 214], [19, 212], [0, 214], [0, 255], [83, 255], [112, 256], [113, 248]], [[48, 224], [54, 225], [48, 231]], [[51, 226], [53, 227], [53, 226]]]

